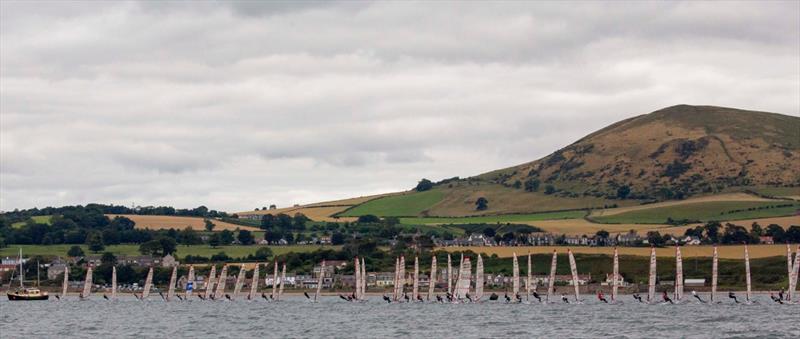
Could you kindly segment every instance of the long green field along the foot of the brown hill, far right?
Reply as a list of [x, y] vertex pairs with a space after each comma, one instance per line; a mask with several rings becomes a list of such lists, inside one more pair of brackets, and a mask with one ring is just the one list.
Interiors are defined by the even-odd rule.
[[[767, 208], [770, 206], [786, 204], [791, 206]], [[731, 221], [790, 216], [795, 214], [798, 209], [800, 209], [800, 203], [797, 202], [713, 201], [657, 207], [646, 210], [630, 211], [616, 215], [593, 217], [592, 221], [609, 224], [661, 224], [665, 223], [667, 218], [672, 218], [673, 220], [699, 220], [704, 222], [710, 220]]]

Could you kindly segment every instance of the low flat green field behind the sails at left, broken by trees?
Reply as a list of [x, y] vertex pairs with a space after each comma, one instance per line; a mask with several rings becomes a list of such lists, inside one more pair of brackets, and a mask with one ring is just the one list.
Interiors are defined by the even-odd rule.
[[[42, 256], [66, 256], [67, 251], [73, 245], [8, 245], [8, 247], [0, 248], [0, 256], [7, 257], [7, 256], [16, 256], [19, 253], [19, 249], [22, 248], [22, 255], [23, 256], [34, 256], [34, 255], [42, 255]], [[176, 253], [177, 256], [184, 257], [187, 255], [199, 255], [204, 257], [210, 257], [211, 255], [217, 254], [219, 252], [225, 252], [230, 257], [237, 258], [237, 257], [246, 257], [248, 254], [255, 254], [256, 250], [261, 247], [269, 247], [272, 249], [272, 253], [276, 255], [281, 255], [284, 253], [289, 252], [313, 252], [317, 249], [324, 248], [324, 249], [339, 249], [341, 246], [319, 246], [319, 245], [290, 245], [290, 246], [219, 246], [216, 248], [211, 248], [208, 245], [191, 245], [191, 246], [184, 246], [178, 245], [178, 252]], [[91, 255], [92, 253], [89, 251], [89, 248], [86, 245], [81, 245], [83, 248], [83, 252], [87, 255]], [[140, 255], [139, 253], [139, 245], [109, 245], [106, 246], [106, 249], [103, 252], [111, 252], [115, 255]], [[102, 253], [102, 252], [101, 252]]]

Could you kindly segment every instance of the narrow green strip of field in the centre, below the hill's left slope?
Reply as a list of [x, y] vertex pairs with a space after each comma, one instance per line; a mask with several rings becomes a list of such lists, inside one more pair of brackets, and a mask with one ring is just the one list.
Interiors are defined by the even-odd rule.
[[455, 218], [435, 218], [435, 217], [414, 217], [400, 218], [400, 223], [406, 225], [420, 224], [479, 224], [479, 223], [514, 223], [538, 220], [557, 220], [557, 219], [579, 219], [586, 215], [585, 211], [564, 211], [564, 212], [544, 212], [532, 214], [505, 214], [487, 215], [477, 217], [455, 217]]

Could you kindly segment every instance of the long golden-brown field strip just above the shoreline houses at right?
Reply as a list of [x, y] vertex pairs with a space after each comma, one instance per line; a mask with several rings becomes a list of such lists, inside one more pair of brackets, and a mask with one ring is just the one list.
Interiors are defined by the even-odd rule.
[[[797, 245], [792, 245], [792, 251], [796, 250]], [[613, 247], [566, 247], [566, 246], [520, 246], [520, 247], [444, 247], [438, 248], [440, 250], [446, 250], [450, 252], [456, 251], [473, 251], [475, 253], [483, 253], [486, 255], [497, 254], [497, 256], [501, 258], [511, 257], [513, 253], [517, 253], [517, 255], [527, 254], [528, 252], [532, 254], [542, 254], [542, 253], [553, 253], [553, 250], [556, 250], [559, 254], [567, 253], [567, 249], [572, 249], [573, 253], [581, 253], [581, 254], [608, 254], [612, 255], [614, 253]], [[719, 246], [719, 257], [724, 259], [743, 259], [744, 258], [744, 246], [743, 245], [731, 245], [731, 246]], [[750, 245], [749, 246], [750, 257], [755, 258], [766, 258], [766, 257], [774, 257], [774, 256], [786, 256], [786, 245]], [[681, 255], [686, 257], [710, 257], [713, 253], [713, 246], [683, 246], [681, 247]], [[620, 247], [619, 248], [620, 255], [637, 255], [637, 256], [649, 256], [650, 255], [650, 248], [649, 247]], [[659, 257], [674, 257], [675, 256], [675, 249], [673, 247], [668, 248], [656, 248], [656, 255]]]

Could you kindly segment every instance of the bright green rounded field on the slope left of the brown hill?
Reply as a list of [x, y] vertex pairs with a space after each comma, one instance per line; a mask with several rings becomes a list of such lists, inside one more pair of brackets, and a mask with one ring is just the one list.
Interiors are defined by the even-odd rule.
[[444, 194], [439, 190], [388, 196], [367, 201], [342, 212], [339, 216], [357, 217], [367, 214], [381, 217], [415, 216], [441, 201], [443, 197]]

